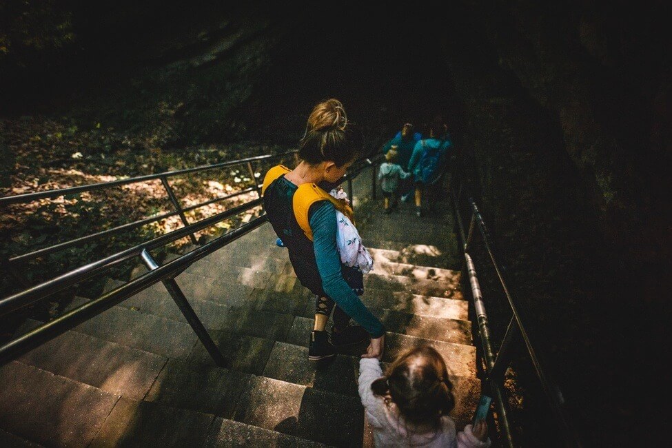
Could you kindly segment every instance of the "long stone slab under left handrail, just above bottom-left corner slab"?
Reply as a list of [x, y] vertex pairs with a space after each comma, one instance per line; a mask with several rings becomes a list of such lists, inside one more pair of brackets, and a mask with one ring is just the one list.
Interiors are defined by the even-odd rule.
[[[17, 334], [41, 323], [28, 320]], [[17, 359], [114, 395], [137, 400], [150, 390], [166, 358], [82, 334], [65, 332]]]

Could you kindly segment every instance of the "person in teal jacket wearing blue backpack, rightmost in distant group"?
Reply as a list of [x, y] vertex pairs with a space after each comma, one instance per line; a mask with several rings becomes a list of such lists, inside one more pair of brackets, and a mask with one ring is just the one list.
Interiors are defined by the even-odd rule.
[[[416, 143], [408, 163], [408, 171], [413, 174], [416, 185], [415, 200], [417, 216], [422, 216], [423, 193], [427, 196], [429, 210], [434, 209], [438, 186], [441, 185], [443, 174], [447, 168], [447, 153], [451, 146], [452, 143], [447, 132], [447, 126], [442, 116], [437, 115], [429, 124], [429, 137], [427, 139], [420, 139]], [[427, 181], [427, 179], [423, 179], [426, 176], [422, 171], [427, 166], [427, 159], [433, 156], [436, 156], [438, 163], [436, 163], [435, 172], [431, 176], [432, 180]]]

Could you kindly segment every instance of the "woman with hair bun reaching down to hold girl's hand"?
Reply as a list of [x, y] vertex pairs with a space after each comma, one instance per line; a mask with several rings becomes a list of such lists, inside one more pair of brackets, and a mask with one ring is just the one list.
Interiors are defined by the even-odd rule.
[[[298, 165], [269, 183], [263, 193], [264, 210], [281, 243], [289, 252], [296, 277], [316, 295], [315, 321], [310, 334], [308, 358], [320, 360], [336, 354], [338, 345], [362, 342], [370, 337], [363, 358], [383, 353], [385, 327], [365, 307], [348, 285], [336, 245], [336, 208], [331, 201], [317, 201], [308, 211], [312, 241], [296, 221], [293, 198], [298, 185], [337, 184], [362, 149], [363, 135], [347, 121], [343, 104], [328, 99], [311, 112], [301, 139]], [[325, 327], [334, 312], [332, 334]], [[350, 319], [359, 325], [350, 325]], [[331, 336], [331, 337], [329, 337]]]

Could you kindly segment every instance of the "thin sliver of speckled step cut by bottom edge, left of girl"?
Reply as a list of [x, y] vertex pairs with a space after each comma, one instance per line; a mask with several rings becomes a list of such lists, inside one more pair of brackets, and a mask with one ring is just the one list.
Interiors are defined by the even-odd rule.
[[318, 448], [328, 447], [323, 443], [288, 436], [278, 431], [264, 429], [245, 423], [216, 418], [212, 423], [210, 435], [203, 448], [229, 447], [296, 447]]

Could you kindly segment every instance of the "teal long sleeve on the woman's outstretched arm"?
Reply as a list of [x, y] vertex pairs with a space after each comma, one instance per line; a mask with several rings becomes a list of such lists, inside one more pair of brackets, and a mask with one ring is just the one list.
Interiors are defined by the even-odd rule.
[[361, 325], [372, 338], [385, 334], [383, 323], [360, 301], [340, 271], [336, 247], [336, 208], [329, 201], [320, 201], [310, 208], [309, 225], [322, 287], [329, 298]]

